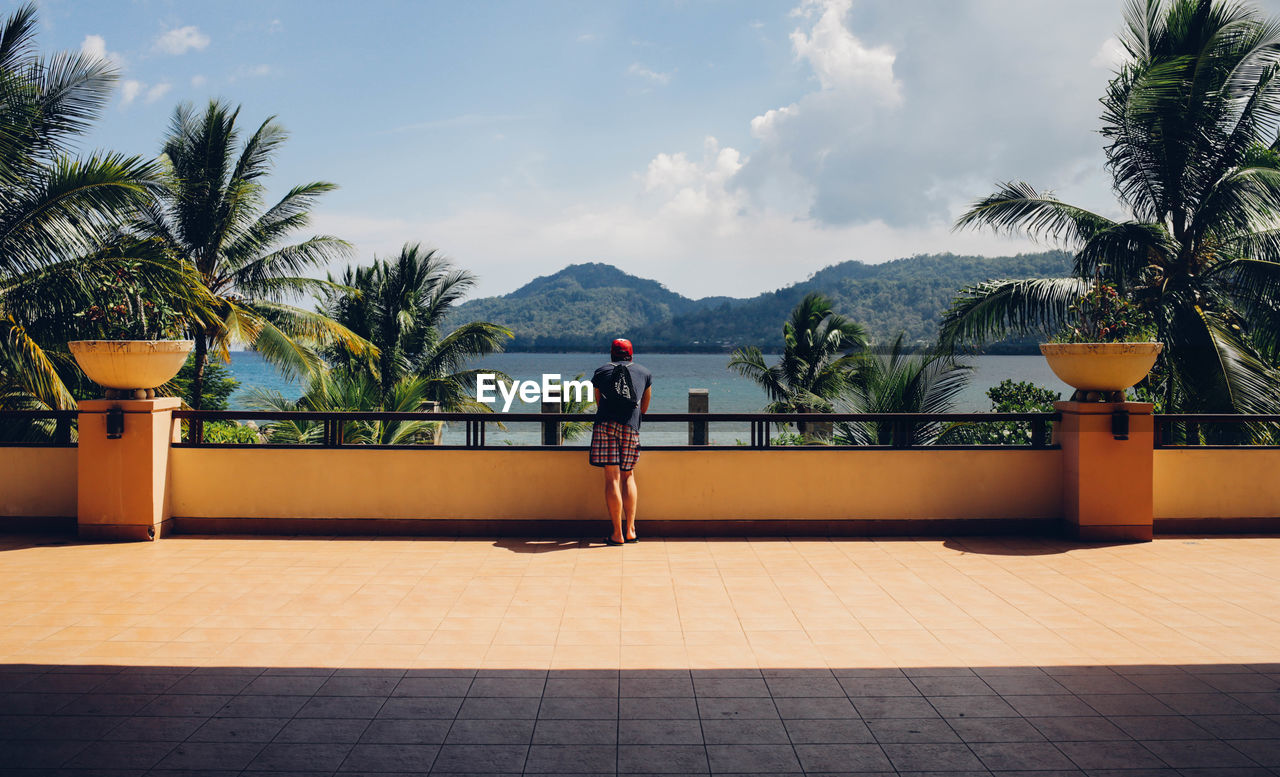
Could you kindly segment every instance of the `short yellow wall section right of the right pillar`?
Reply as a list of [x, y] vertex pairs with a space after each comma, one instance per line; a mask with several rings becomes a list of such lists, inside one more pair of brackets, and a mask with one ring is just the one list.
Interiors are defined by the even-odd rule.
[[1280, 517], [1280, 451], [1156, 451], [1156, 518]]

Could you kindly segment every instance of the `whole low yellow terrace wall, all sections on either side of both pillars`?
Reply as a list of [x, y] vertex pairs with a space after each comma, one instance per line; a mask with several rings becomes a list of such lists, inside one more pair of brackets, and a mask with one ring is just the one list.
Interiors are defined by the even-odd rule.
[[[0, 447], [0, 529], [70, 526], [83, 454]], [[172, 516], [168, 527], [180, 531], [279, 534], [581, 527], [602, 512], [600, 476], [585, 457], [566, 448], [175, 447], [157, 521]], [[746, 524], [804, 534], [1038, 530], [1066, 518], [1070, 470], [1060, 448], [650, 449], [641, 462], [652, 534], [750, 531]], [[1275, 531], [1277, 471], [1280, 449], [1156, 449], [1155, 529]]]

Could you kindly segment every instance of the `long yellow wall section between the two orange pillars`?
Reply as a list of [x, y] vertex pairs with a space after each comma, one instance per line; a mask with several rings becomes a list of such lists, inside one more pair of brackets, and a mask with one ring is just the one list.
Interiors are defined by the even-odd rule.
[[[1057, 451], [646, 451], [654, 520], [1053, 518]], [[585, 451], [174, 448], [175, 517], [595, 518]]]

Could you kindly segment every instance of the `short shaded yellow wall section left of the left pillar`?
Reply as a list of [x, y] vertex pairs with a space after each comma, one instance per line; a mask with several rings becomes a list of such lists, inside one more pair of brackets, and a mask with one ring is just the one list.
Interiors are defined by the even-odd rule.
[[0, 516], [74, 517], [76, 448], [0, 447]]

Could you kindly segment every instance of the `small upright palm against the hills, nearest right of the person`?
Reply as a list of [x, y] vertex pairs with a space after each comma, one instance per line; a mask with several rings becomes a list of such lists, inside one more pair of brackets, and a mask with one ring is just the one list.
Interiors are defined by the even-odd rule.
[[[751, 346], [733, 351], [728, 367], [764, 389], [769, 397], [765, 412], [833, 412], [836, 398], [852, 385], [861, 361], [858, 352], [865, 347], [864, 329], [813, 292], [782, 325], [782, 357], [776, 365], [767, 364]], [[799, 425], [800, 434], [805, 426]]]

